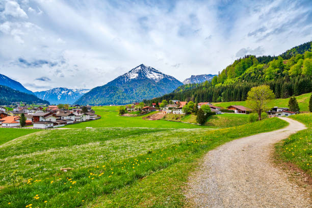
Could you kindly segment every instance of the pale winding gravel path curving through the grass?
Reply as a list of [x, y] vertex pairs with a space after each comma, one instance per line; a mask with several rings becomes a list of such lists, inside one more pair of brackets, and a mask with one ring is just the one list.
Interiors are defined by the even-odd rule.
[[306, 127], [290, 118], [277, 131], [228, 142], [207, 153], [189, 178], [191, 207], [312, 207], [309, 193], [271, 162], [273, 144]]

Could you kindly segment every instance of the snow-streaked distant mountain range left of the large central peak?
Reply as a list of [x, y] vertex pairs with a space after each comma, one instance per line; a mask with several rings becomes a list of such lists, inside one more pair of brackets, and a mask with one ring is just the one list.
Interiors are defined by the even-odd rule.
[[50, 103], [74, 103], [83, 94], [89, 92], [87, 89], [67, 89], [63, 87], [53, 88], [46, 91], [34, 92], [40, 99], [48, 100]]

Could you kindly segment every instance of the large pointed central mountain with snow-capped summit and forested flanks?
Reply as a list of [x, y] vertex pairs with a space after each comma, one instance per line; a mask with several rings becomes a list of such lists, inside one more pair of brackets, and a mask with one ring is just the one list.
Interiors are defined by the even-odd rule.
[[182, 83], [150, 66], [141, 64], [106, 85], [93, 88], [75, 103], [123, 105], [172, 92]]

